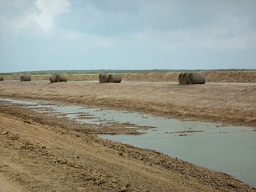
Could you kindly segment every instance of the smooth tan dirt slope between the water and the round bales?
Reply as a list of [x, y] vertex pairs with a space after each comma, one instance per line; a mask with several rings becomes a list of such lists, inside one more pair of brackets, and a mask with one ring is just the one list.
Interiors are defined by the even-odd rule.
[[256, 85], [45, 81], [0, 83], [0, 96], [64, 101], [179, 119], [256, 127]]

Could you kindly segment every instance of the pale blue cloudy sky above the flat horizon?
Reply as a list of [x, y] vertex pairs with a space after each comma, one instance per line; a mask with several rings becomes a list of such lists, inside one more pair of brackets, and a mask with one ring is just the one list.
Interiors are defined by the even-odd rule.
[[0, 73], [256, 69], [255, 0], [0, 0]]

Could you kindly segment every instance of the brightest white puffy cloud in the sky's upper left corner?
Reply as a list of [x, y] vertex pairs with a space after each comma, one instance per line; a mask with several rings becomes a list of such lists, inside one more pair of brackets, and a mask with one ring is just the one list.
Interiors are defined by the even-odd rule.
[[43, 32], [49, 33], [55, 28], [55, 19], [62, 13], [70, 11], [69, 0], [36, 0], [36, 2], [26, 2], [26, 5], [29, 11], [23, 12], [24, 5], [21, 6], [19, 2], [2, 4], [2, 10], [10, 10], [9, 13], [15, 9], [21, 12], [13, 14], [13, 17], [2, 14], [0, 17], [2, 31], [18, 35], [21, 32], [30, 32], [37, 25]]

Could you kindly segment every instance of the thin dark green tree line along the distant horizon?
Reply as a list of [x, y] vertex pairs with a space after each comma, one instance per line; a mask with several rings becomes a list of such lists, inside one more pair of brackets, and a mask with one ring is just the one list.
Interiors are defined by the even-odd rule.
[[37, 71], [19, 71], [13, 73], [0, 73], [1, 75], [10, 75], [17, 73], [28, 73], [34, 75], [63, 73], [63, 74], [86, 74], [86, 73], [179, 73], [179, 72], [195, 72], [195, 71], [254, 71], [256, 69], [220, 69], [220, 70], [37, 70]]

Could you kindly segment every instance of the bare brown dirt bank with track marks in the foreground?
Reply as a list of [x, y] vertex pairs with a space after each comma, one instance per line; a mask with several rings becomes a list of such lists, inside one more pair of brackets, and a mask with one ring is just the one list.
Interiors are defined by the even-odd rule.
[[26, 114], [11, 105], [0, 111], [0, 186], [6, 189], [255, 191], [229, 175]]

